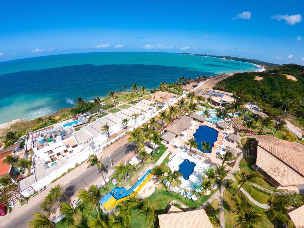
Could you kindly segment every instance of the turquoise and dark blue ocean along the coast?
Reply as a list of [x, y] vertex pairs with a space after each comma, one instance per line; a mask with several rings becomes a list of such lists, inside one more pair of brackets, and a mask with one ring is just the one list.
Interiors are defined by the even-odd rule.
[[136, 83], [148, 89], [178, 78], [257, 71], [256, 65], [156, 52], [95, 52], [0, 62], [0, 124], [34, 119]]

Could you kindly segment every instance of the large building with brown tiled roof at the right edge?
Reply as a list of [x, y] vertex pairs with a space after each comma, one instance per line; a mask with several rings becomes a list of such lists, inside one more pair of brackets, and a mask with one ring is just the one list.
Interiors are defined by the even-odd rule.
[[272, 136], [255, 136], [250, 155], [256, 158], [253, 168], [277, 188], [304, 190], [304, 146]]

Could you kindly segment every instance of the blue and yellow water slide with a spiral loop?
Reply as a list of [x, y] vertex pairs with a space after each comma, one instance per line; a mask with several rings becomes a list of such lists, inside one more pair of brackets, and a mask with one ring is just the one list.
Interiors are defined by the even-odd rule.
[[[123, 202], [127, 199], [134, 197], [140, 191], [140, 189], [143, 188], [143, 186], [150, 180], [150, 178], [152, 176], [153, 176], [153, 174], [151, 174], [151, 169], [149, 169], [127, 192], [124, 192], [124, 190], [123, 190], [126, 188], [113, 188], [112, 191], [110, 192], [110, 194], [112, 195], [112, 192], [113, 193], [115, 192], [115, 193], [114, 193], [114, 195], [112, 195], [112, 197], [107, 198], [107, 201], [103, 204], [104, 208], [110, 212], [120, 202]], [[137, 186], [138, 186], [138, 188], [134, 191], [134, 189]], [[123, 192], [121, 193], [121, 191], [123, 191]]]

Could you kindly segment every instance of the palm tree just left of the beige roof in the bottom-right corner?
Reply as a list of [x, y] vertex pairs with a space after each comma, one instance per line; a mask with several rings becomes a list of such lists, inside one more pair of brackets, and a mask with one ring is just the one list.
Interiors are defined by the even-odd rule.
[[268, 199], [268, 206], [266, 214], [271, 221], [276, 218], [282, 223], [290, 224], [290, 220], [286, 214], [291, 204], [286, 197], [273, 193]]

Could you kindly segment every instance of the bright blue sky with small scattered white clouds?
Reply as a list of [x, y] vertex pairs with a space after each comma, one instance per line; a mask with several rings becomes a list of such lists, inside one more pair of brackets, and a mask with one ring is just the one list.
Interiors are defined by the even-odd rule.
[[302, 17], [300, 0], [2, 1], [0, 61], [157, 51], [304, 65]]

